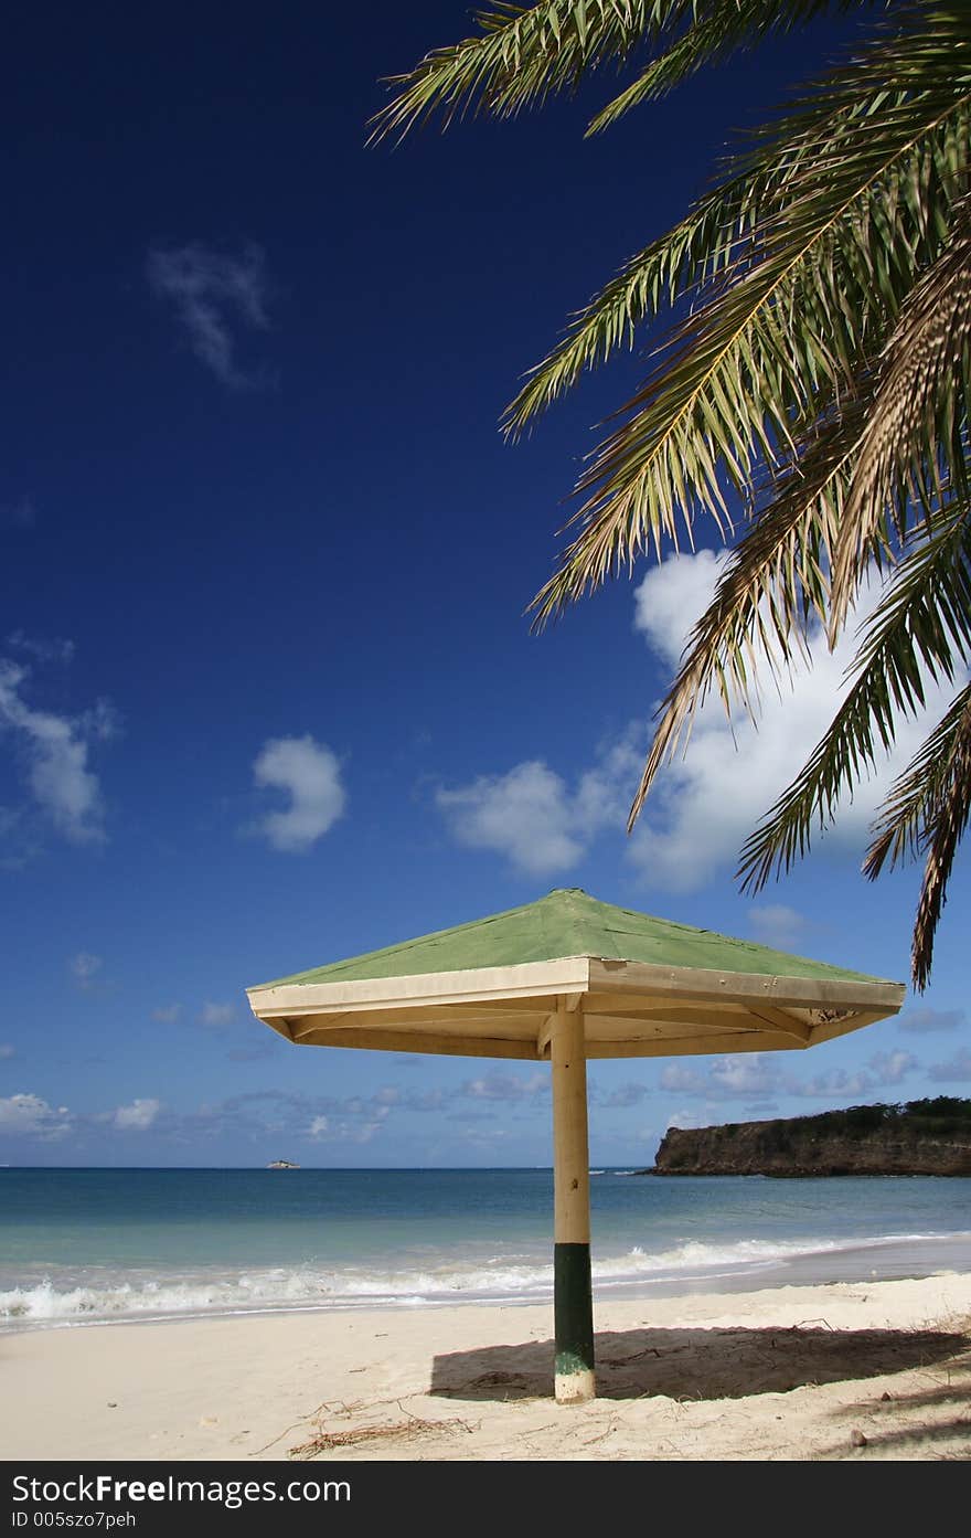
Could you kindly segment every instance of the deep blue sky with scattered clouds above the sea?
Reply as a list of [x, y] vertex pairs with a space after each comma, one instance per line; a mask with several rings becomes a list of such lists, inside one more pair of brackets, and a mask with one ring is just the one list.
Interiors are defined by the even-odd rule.
[[[711, 531], [529, 634], [642, 352], [529, 441], [496, 431], [837, 31], [595, 141], [596, 83], [367, 149], [379, 77], [464, 31], [452, 0], [9, 18], [0, 1161], [547, 1164], [545, 1069], [301, 1052], [243, 989], [553, 886], [906, 977], [917, 874], [859, 875], [879, 784], [757, 901], [731, 874], [847, 655], [820, 647], [759, 734], [707, 715], [624, 834]], [[897, 1021], [592, 1066], [595, 1163], [650, 1163], [671, 1121], [966, 1094], [968, 897], [965, 861]]]

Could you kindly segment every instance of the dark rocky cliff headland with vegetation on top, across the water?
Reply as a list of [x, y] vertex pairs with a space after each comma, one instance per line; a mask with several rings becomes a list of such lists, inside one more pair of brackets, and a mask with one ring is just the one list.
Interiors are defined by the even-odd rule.
[[860, 1109], [890, 1114], [871, 1126], [854, 1124], [853, 1112], [828, 1112], [791, 1121], [671, 1127], [658, 1149], [655, 1173], [971, 1175], [971, 1120], [962, 1126], [963, 1118], [908, 1118], [902, 1114], [908, 1107]]

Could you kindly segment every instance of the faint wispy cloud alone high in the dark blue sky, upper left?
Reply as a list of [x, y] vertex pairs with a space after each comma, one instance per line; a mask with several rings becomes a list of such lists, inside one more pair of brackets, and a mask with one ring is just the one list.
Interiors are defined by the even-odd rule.
[[252, 389], [266, 383], [264, 374], [237, 365], [234, 337], [237, 325], [269, 328], [260, 246], [246, 246], [238, 257], [221, 255], [198, 241], [155, 249], [149, 252], [146, 272], [155, 297], [175, 306], [195, 357], [221, 384]]

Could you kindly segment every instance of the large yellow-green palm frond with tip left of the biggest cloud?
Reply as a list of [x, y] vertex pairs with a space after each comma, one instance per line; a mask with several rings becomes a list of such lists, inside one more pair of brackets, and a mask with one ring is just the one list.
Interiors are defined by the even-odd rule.
[[[948, 34], [948, 26], [934, 32], [937, 52]], [[910, 35], [876, 49], [880, 78], [897, 68], [906, 75], [923, 45], [926, 37]], [[862, 77], [870, 78], [874, 68], [874, 57], [863, 58]], [[688, 526], [696, 511], [719, 521], [725, 511], [719, 475], [744, 491], [759, 458], [771, 463], [777, 443], [791, 448], [793, 426], [854, 388], [867, 361], [871, 317], [871, 334], [882, 340], [879, 317], [885, 326], [886, 312], [905, 297], [902, 263], [910, 263], [913, 285], [917, 241], [891, 238], [896, 251], [883, 261], [873, 221], [870, 249], [859, 243], [854, 225], [874, 191], [890, 185], [897, 223], [906, 215], [919, 226], [913, 161], [933, 135], [949, 140], [956, 120], [966, 117], [971, 37], [965, 35], [960, 68], [942, 71], [936, 85], [914, 95], [894, 91], [888, 100], [882, 86], [860, 102], [854, 78], [854, 71], [843, 71], [834, 91], [850, 95], [853, 117], [843, 118], [839, 132], [831, 115], [825, 118], [827, 154], [797, 163], [784, 206], [761, 231], [754, 258], [678, 329], [673, 355], [628, 403], [630, 420], [601, 444], [581, 477], [578, 491], [587, 500], [572, 523], [582, 532], [533, 600], [538, 624], [631, 564], [650, 541], [674, 538], [678, 515]], [[894, 237], [896, 228], [888, 225], [885, 235]], [[850, 308], [853, 258], [868, 261], [856, 275]], [[827, 335], [807, 325], [807, 291], [824, 315], [842, 314], [845, 355], [833, 346], [839, 328]]]

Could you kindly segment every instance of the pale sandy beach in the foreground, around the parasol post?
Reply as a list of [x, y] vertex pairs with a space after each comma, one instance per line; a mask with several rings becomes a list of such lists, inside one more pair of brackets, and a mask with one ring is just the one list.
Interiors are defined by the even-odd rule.
[[971, 1456], [971, 1275], [604, 1300], [598, 1398], [552, 1398], [548, 1306], [0, 1337], [3, 1458]]

